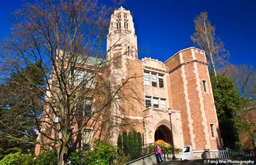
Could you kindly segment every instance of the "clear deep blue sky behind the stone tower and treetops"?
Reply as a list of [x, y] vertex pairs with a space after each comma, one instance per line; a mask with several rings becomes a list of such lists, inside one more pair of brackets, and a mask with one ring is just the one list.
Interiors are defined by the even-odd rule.
[[[21, 8], [22, 4], [22, 1], [15, 0], [0, 1], [1, 38], [9, 33], [10, 13]], [[216, 34], [230, 51], [230, 62], [256, 64], [254, 0], [127, 0], [123, 7], [132, 13], [138, 46], [149, 51], [149, 54], [140, 53], [140, 59], [151, 56], [165, 61], [179, 50], [193, 46], [190, 39], [194, 33], [193, 20], [201, 11], [207, 11]]]

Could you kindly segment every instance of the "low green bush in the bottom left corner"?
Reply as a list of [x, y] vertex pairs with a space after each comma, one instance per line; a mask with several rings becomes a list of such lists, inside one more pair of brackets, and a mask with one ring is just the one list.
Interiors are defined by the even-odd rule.
[[32, 156], [29, 154], [22, 154], [21, 152], [11, 153], [6, 155], [0, 164], [31, 164]]

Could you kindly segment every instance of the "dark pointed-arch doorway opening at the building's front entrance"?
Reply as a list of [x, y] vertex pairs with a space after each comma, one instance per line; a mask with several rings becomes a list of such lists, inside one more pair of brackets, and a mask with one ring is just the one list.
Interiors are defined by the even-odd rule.
[[164, 140], [165, 142], [172, 145], [171, 130], [165, 125], [160, 125], [157, 127], [157, 130], [154, 133], [154, 141], [157, 140]]

